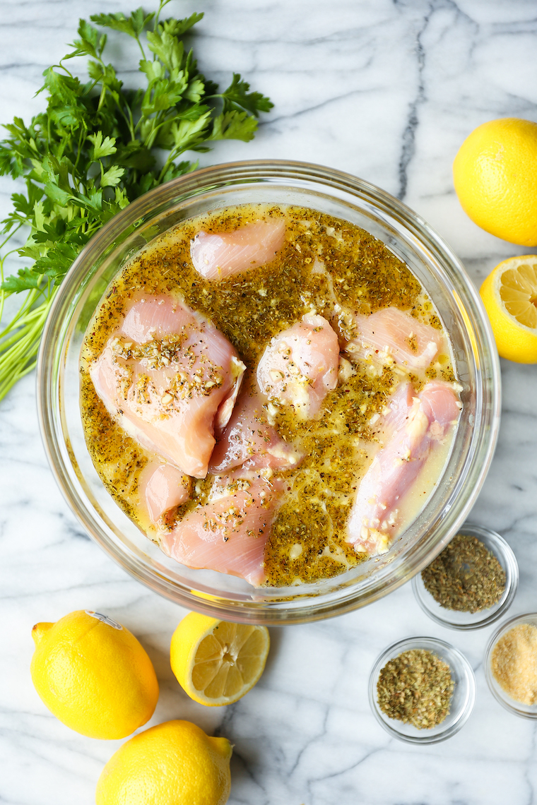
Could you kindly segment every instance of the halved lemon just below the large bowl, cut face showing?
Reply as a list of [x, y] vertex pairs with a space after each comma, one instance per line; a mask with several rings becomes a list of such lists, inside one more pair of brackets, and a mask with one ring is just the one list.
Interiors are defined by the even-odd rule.
[[191, 612], [171, 638], [171, 670], [199, 704], [231, 704], [262, 675], [270, 642], [266, 626], [228, 623]]

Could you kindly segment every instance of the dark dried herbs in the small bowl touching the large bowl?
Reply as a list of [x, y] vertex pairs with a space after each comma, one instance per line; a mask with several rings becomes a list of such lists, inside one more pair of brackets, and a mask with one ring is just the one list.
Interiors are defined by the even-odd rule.
[[444, 609], [475, 613], [498, 604], [506, 572], [477, 537], [457, 534], [422, 571], [423, 586]]

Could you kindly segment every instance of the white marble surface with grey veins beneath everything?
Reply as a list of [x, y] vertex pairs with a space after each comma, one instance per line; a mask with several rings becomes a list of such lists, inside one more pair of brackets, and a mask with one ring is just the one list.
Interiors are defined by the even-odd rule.
[[[147, 8], [151, 4], [148, 4]], [[479, 284], [523, 250], [477, 229], [452, 188], [465, 135], [505, 116], [537, 121], [535, 0], [184, 0], [204, 9], [196, 49], [204, 72], [242, 72], [275, 101], [258, 138], [219, 144], [202, 163], [277, 157], [324, 163], [403, 198], [438, 229]], [[79, 16], [130, 10], [126, 0], [0, 0], [0, 120], [28, 119], [43, 68], [64, 54]], [[120, 55], [132, 66], [134, 51]], [[128, 74], [126, 80], [129, 80]], [[0, 212], [10, 181], [0, 184]], [[502, 364], [498, 451], [473, 519], [509, 540], [521, 568], [512, 613], [537, 609], [537, 367]], [[61, 725], [29, 674], [31, 626], [72, 609], [109, 613], [153, 658], [161, 696], [151, 724], [187, 718], [235, 745], [230, 805], [531, 805], [535, 725], [510, 716], [486, 687], [490, 630], [436, 626], [407, 585], [355, 613], [272, 630], [258, 686], [233, 707], [203, 708], [180, 690], [167, 647], [184, 612], [116, 567], [73, 518], [45, 460], [26, 378], [0, 415], [0, 803], [90, 805], [118, 742]], [[367, 701], [370, 667], [409, 634], [447, 639], [477, 675], [477, 704], [450, 741], [390, 739]]]

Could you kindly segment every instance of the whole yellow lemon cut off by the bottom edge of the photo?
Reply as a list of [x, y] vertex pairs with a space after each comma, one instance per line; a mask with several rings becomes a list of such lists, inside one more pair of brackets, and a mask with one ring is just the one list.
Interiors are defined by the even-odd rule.
[[166, 721], [126, 741], [97, 782], [97, 805], [225, 805], [231, 778], [227, 738], [190, 721]]

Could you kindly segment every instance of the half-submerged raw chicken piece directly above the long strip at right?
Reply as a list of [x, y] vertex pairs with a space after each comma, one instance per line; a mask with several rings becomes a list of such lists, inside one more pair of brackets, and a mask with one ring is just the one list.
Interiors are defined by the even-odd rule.
[[382, 308], [371, 316], [353, 315], [357, 335], [345, 349], [349, 353], [385, 353], [411, 369], [427, 369], [440, 352], [448, 352], [444, 334], [398, 308]]

